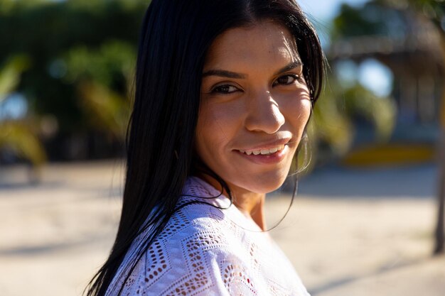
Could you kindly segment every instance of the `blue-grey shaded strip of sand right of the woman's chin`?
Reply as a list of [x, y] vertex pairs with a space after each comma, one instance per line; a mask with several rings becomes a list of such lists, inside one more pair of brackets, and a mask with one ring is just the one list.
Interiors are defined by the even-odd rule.
[[330, 198], [431, 198], [435, 197], [436, 188], [434, 164], [368, 170], [330, 167], [301, 177], [298, 194]]

